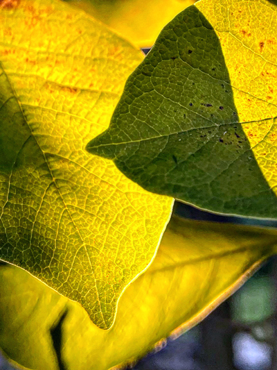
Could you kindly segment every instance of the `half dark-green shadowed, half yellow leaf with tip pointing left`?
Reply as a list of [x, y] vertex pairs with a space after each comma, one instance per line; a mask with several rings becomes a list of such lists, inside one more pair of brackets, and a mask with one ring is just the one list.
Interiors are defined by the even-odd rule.
[[199, 208], [277, 218], [277, 11], [202, 0], [163, 29], [91, 153]]

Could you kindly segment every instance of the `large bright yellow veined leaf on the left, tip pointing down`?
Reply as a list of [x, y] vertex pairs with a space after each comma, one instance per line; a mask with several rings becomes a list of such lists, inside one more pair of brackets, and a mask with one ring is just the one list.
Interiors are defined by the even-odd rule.
[[109, 328], [172, 204], [85, 151], [141, 52], [60, 1], [0, 9], [0, 258]]

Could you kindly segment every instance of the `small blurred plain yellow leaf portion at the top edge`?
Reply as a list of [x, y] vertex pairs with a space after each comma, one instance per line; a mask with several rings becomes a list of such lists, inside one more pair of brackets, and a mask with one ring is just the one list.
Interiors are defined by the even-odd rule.
[[152, 47], [163, 26], [195, 0], [68, 0], [132, 41]]

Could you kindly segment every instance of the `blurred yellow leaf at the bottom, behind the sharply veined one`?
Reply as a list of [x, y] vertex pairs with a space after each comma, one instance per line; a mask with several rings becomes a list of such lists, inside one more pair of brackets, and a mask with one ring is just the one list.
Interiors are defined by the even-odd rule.
[[172, 217], [157, 257], [125, 290], [109, 330], [91, 323], [77, 303], [6, 264], [0, 268], [0, 346], [33, 370], [57, 370], [57, 362], [68, 370], [125, 364], [203, 319], [276, 253], [276, 242], [275, 229]]

